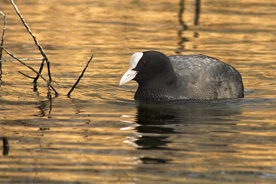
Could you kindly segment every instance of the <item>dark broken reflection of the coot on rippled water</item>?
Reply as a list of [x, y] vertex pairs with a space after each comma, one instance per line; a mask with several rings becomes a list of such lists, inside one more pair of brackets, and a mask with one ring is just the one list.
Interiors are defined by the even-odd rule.
[[[186, 131], [183, 127], [236, 125], [235, 120], [227, 117], [240, 114], [239, 108], [229, 111], [229, 108], [223, 108], [224, 105], [224, 100], [187, 100], [166, 103], [140, 102], [137, 105], [135, 122], [133, 122], [136, 133], [132, 138], [129, 138], [128, 142], [131, 142], [139, 150], [189, 151], [187, 149], [169, 148], [168, 144], [173, 143], [170, 136], [172, 134], [201, 135], [209, 133], [209, 131], [190, 132], [190, 129]], [[201, 145], [208, 144], [203, 142]], [[170, 159], [142, 157], [140, 160], [143, 163], [166, 163]]]

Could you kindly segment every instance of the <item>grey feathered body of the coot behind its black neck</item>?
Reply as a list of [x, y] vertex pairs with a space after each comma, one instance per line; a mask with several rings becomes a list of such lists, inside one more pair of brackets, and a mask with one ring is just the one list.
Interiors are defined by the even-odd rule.
[[171, 55], [168, 58], [182, 98], [243, 98], [242, 77], [229, 64], [202, 54]]

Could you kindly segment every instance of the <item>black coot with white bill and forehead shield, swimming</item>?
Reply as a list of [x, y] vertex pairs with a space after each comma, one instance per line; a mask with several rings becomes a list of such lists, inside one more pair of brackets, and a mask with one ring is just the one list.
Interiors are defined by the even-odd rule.
[[243, 98], [240, 73], [229, 64], [202, 54], [137, 52], [119, 85], [138, 83], [135, 100]]

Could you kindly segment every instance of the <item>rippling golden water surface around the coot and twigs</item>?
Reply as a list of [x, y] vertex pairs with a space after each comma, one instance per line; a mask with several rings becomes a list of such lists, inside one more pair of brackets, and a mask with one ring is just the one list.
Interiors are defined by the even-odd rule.
[[[10, 1], [0, 3], [3, 46], [41, 58]], [[1, 183], [276, 183], [275, 1], [202, 1], [198, 25], [194, 1], [15, 3], [61, 95], [19, 74], [34, 76], [19, 62], [2, 62]], [[119, 81], [146, 50], [231, 64], [244, 98], [135, 101], [138, 84]]]

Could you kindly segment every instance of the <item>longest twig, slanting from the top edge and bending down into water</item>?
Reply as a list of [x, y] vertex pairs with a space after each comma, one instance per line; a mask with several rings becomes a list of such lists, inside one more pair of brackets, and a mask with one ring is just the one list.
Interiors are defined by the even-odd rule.
[[38, 47], [38, 49], [40, 50], [40, 53], [42, 54], [42, 56], [45, 58], [45, 61], [47, 63], [47, 67], [48, 67], [48, 75], [49, 75], [49, 81], [52, 80], [51, 77], [51, 72], [50, 72], [50, 61], [48, 60], [48, 57], [46, 56], [46, 53], [44, 52], [44, 50], [42, 49], [42, 47], [39, 45], [36, 37], [33, 35], [32, 31], [30, 30], [28, 24], [26, 23], [26, 21], [24, 20], [24, 18], [22, 17], [22, 15], [20, 14], [19, 10], [17, 9], [17, 6], [14, 4], [13, 0], [10, 0], [10, 2], [12, 3], [16, 13], [18, 14], [18, 16], [20, 17], [21, 21], [23, 22], [24, 26], [27, 28], [28, 32], [30, 33], [30, 35], [33, 37], [33, 40], [36, 43], [36, 46]]

